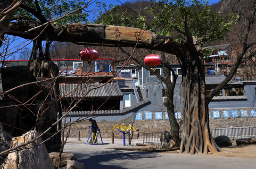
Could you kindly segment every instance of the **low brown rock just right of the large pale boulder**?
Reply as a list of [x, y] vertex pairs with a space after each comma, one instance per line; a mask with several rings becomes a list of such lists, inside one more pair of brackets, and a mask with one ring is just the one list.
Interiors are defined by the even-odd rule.
[[[52, 152], [49, 153], [50, 160], [52, 161], [54, 168], [58, 169], [59, 153]], [[60, 158], [60, 167], [66, 167], [66, 161], [73, 160], [76, 161], [76, 157], [72, 153], [62, 153]]]

